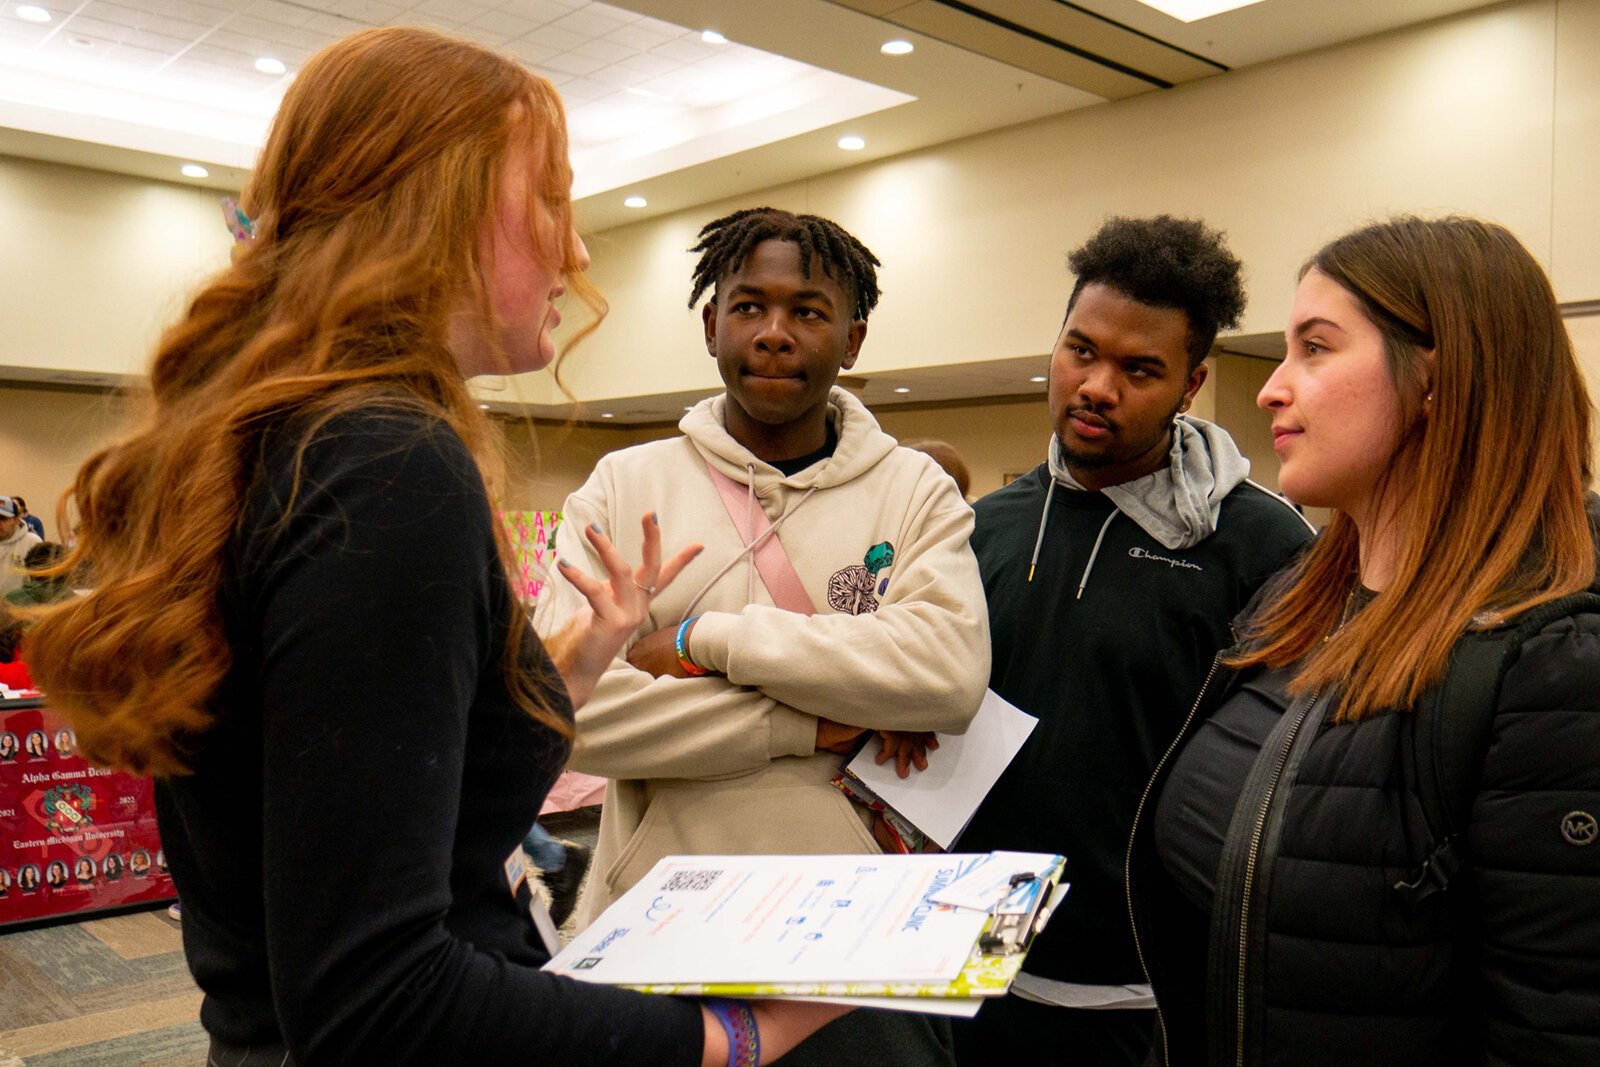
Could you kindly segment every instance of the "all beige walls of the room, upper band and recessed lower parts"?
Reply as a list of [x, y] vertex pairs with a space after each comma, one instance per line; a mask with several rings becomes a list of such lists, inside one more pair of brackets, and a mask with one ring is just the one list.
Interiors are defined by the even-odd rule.
[[[1042, 354], [1064, 251], [1109, 213], [1202, 214], [1245, 259], [1245, 333], [1277, 331], [1318, 243], [1394, 211], [1509, 224], [1563, 301], [1600, 299], [1600, 3], [1526, 0], [1291, 58], [1173, 91], [1002, 130], [651, 219], [590, 238], [613, 314], [568, 376], [586, 400], [715, 389], [688, 296], [694, 230], [771, 202], [838, 218], [885, 261], [859, 371]], [[203, 189], [0, 157], [0, 366], [130, 373], [162, 323], [226, 262]], [[1571, 320], [1600, 395], [1600, 315]], [[1254, 392], [1269, 365], [1222, 357], [1195, 411], [1240, 438], [1258, 480], [1277, 459]], [[555, 398], [525, 376], [507, 398]], [[1043, 402], [885, 410], [902, 437], [942, 437], [974, 493], [1038, 462]], [[0, 491], [46, 518], [120, 421], [115, 400], [0, 387]], [[611, 448], [672, 427], [510, 429], [517, 507], [557, 507]], [[53, 526], [53, 523], [51, 523]]]

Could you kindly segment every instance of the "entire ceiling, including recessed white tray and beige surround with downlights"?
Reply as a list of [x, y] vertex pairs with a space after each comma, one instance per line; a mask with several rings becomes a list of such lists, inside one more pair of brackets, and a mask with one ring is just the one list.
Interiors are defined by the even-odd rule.
[[[1074, 85], [1051, 50], [1102, 50], [1123, 67], [1168, 58], [1203, 77], [1486, 2], [1262, 0], [1184, 24], [1138, 0], [46, 0], [53, 21], [37, 26], [0, 0], [0, 152], [80, 162], [80, 147], [50, 149], [51, 138], [91, 136], [102, 150], [88, 158], [110, 170], [146, 174], [165, 155], [171, 171], [194, 160], [242, 173], [315, 50], [363, 27], [429, 24], [562, 90], [581, 218], [603, 229], [1106, 98]], [[1005, 34], [990, 46], [896, 24], [957, 16], [1032, 32], [1027, 46], [1045, 58], [1022, 59]], [[1088, 27], [1094, 40], [1051, 45], [1040, 27]], [[707, 43], [702, 29], [731, 43]], [[890, 37], [915, 54], [878, 54]], [[259, 56], [288, 74], [254, 70]], [[1163, 91], [1163, 77], [1178, 78], [1102, 82], [1120, 96]], [[867, 149], [840, 152], [842, 133]], [[648, 210], [622, 206], [635, 194]]]

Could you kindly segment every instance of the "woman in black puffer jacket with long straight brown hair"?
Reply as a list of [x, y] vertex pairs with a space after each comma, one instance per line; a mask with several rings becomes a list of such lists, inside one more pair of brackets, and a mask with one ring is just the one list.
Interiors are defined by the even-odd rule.
[[1600, 1064], [1600, 509], [1549, 280], [1395, 219], [1310, 261], [1288, 339], [1258, 403], [1334, 518], [1141, 801], [1152, 1056]]

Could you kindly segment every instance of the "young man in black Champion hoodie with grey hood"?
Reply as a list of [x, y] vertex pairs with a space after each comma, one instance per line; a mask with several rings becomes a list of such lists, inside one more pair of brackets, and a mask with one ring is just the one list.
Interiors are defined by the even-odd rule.
[[1011, 995], [957, 1025], [963, 1065], [1144, 1059], [1155, 1013], [1123, 880], [1134, 808], [1229, 622], [1312, 534], [1246, 480], [1221, 427], [1184, 414], [1245, 309], [1222, 235], [1110, 219], [1069, 264], [1048, 459], [974, 507], [989, 685], [1038, 726], [957, 849], [1061, 853], [1072, 889]]

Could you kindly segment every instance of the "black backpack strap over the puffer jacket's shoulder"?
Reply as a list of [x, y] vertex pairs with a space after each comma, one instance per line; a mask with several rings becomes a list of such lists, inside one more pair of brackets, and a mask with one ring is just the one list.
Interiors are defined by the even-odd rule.
[[1394, 886], [1411, 904], [1445, 889], [1461, 870], [1461, 838], [1483, 776], [1506, 670], [1523, 641], [1581, 611], [1600, 611], [1600, 595], [1558, 597], [1506, 625], [1467, 633], [1450, 651], [1445, 678], [1419, 702], [1403, 737], [1434, 851], [1414, 878]]

